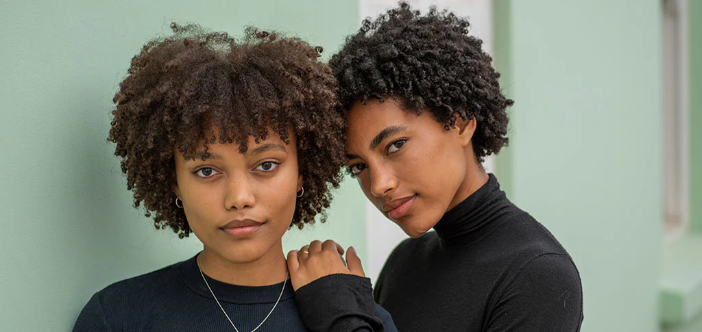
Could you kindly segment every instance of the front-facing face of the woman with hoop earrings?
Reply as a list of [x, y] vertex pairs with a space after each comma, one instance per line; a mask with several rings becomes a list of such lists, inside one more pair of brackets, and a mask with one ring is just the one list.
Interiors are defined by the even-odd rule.
[[294, 135], [270, 134], [239, 153], [239, 144], [211, 144], [210, 157], [186, 160], [176, 151], [176, 194], [203, 254], [250, 263], [282, 252], [281, 237], [295, 212], [298, 175]]

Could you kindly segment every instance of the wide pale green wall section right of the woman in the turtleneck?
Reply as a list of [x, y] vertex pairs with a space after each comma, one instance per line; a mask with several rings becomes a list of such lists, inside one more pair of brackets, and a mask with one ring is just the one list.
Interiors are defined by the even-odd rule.
[[496, 20], [509, 39], [496, 58], [515, 99], [508, 195], [573, 256], [583, 331], [657, 331], [660, 1], [505, 2]]

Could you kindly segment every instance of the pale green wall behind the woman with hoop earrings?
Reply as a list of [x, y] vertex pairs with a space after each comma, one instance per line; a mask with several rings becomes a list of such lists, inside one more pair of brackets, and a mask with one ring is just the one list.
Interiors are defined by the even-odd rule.
[[[131, 207], [106, 141], [112, 96], [145, 41], [171, 20], [237, 35], [255, 24], [329, 57], [357, 12], [356, 1], [3, 1], [0, 330], [69, 331], [93, 292], [199, 250]], [[365, 256], [364, 198], [348, 182], [329, 223], [291, 230], [286, 248], [335, 237]]]

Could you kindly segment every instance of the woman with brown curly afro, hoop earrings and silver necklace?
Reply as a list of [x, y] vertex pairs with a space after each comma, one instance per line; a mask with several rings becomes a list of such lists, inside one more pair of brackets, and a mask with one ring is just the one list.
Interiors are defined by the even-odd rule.
[[[307, 331], [281, 238], [324, 221], [339, 186], [336, 80], [300, 39], [171, 27], [133, 57], [109, 140], [134, 206], [204, 249], [95, 293], [74, 331]], [[382, 308], [363, 314], [358, 331], [396, 331]]]

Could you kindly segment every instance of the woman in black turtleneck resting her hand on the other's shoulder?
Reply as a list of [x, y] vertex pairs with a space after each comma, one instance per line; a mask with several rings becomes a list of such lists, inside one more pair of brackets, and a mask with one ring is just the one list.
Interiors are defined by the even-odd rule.
[[[574, 262], [481, 165], [507, 144], [512, 104], [481, 43], [466, 20], [401, 4], [364, 21], [331, 59], [347, 166], [412, 237], [385, 263], [375, 300], [402, 332], [579, 331]], [[356, 328], [371, 307], [354, 286], [360, 261], [349, 250], [345, 267], [337, 247], [316, 241], [289, 254], [300, 312], [316, 331], [368, 331]]]

